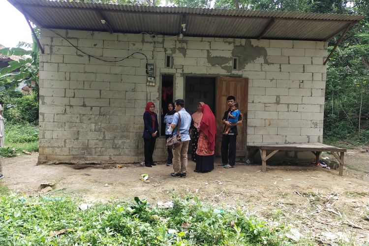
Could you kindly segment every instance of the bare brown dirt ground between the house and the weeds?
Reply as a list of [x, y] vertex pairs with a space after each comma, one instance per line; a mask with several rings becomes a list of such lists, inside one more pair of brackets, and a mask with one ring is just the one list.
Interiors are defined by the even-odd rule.
[[[123, 164], [76, 170], [64, 164], [36, 166], [37, 156], [3, 159], [5, 178], [0, 183], [31, 195], [38, 194], [41, 183], [52, 182], [56, 184], [52, 195], [81, 196], [88, 203], [132, 201], [138, 196], [154, 204], [173, 194], [190, 193], [210, 204], [243, 206], [323, 244], [369, 242], [369, 153], [359, 150], [345, 154], [342, 177], [338, 170], [312, 164], [268, 166], [262, 173], [260, 165], [238, 163], [232, 169], [215, 166], [211, 173], [201, 174], [194, 173], [195, 163], [189, 162], [188, 176], [182, 179], [171, 177], [173, 168], [163, 163], [153, 168]], [[150, 182], [139, 180], [141, 174], [148, 174]]]

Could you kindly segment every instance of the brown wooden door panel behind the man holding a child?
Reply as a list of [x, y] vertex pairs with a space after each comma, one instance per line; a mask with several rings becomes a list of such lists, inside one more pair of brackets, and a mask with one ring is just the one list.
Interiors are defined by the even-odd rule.
[[236, 156], [246, 156], [246, 136], [247, 136], [247, 95], [248, 79], [239, 77], [218, 77], [216, 81], [216, 149], [215, 154], [220, 155], [221, 137], [223, 132], [222, 118], [224, 111], [228, 110], [227, 97], [234, 95], [239, 104], [239, 110], [243, 114], [242, 124], [237, 126], [237, 150]]

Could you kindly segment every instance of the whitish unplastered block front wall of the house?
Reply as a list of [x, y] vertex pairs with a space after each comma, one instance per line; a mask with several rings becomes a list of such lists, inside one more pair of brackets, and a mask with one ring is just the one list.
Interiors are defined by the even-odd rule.
[[[40, 161], [143, 160], [142, 115], [149, 100], [159, 113], [163, 73], [174, 75], [175, 98], [184, 98], [186, 74], [248, 78], [247, 145], [322, 142], [326, 42], [53, 31], [40, 38]], [[154, 87], [143, 55], [103, 62], [84, 54], [115, 61], [136, 51], [155, 63]], [[165, 156], [159, 139], [155, 158]]]

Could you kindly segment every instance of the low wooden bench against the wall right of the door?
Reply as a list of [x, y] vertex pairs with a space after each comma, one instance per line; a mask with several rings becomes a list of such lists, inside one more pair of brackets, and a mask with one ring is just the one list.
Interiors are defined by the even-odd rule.
[[[262, 171], [265, 173], [267, 171], [267, 160], [276, 154], [278, 151], [309, 151], [315, 155], [315, 164], [319, 162], [320, 154], [325, 152], [331, 152], [339, 162], [339, 172], [340, 176], [343, 175], [343, 155], [346, 149], [337, 148], [334, 146], [329, 146], [320, 143], [313, 144], [268, 144], [268, 145], [252, 145], [247, 146], [250, 149], [250, 157], [252, 158], [258, 151], [260, 152], [262, 161]], [[267, 155], [267, 151], [272, 151]], [[338, 154], [339, 153], [339, 154]]]

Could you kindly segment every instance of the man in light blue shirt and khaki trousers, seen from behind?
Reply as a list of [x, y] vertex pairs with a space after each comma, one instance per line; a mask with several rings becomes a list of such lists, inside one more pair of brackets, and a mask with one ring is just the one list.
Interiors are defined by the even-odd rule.
[[[171, 123], [168, 132], [172, 133], [173, 136], [177, 134], [177, 131], [180, 131], [181, 134], [181, 144], [173, 149], [173, 169], [174, 172], [170, 175], [172, 177], [182, 177], [185, 178], [187, 176], [187, 151], [189, 144], [189, 126], [191, 125], [191, 116], [184, 109], [184, 99], [177, 99], [174, 102], [174, 107], [176, 114], [174, 114], [173, 122]], [[181, 117], [181, 121], [178, 125], [178, 119]]]

